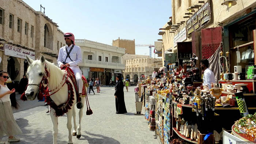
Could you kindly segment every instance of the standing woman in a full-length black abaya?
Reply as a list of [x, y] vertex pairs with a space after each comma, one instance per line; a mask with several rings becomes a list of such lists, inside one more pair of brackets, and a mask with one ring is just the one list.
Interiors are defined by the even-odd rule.
[[116, 113], [122, 114], [127, 113], [124, 103], [124, 83], [122, 81], [121, 75], [118, 75], [116, 77], [117, 83], [116, 83], [116, 92], [114, 94], [116, 98]]

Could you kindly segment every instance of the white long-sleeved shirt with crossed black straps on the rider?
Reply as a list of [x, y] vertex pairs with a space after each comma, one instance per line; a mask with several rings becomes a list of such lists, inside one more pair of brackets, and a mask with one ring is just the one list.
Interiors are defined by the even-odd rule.
[[[59, 56], [58, 56], [58, 65], [60, 67], [61, 64], [63, 64], [62, 62], [65, 61], [66, 57], [67, 57], [67, 52], [66, 52], [66, 47], [67, 50], [69, 52], [69, 50], [71, 49], [73, 44], [71, 44], [69, 47], [68, 46], [64, 46], [62, 48], [60, 48], [59, 51]], [[81, 48], [77, 45], [74, 45], [71, 53], [69, 54], [70, 58], [73, 60], [71, 61], [69, 59], [69, 57], [66, 60], [66, 63], [68, 63], [70, 65], [70, 68], [73, 70], [73, 68], [79, 68], [78, 65], [80, 63], [82, 63], [82, 51]]]

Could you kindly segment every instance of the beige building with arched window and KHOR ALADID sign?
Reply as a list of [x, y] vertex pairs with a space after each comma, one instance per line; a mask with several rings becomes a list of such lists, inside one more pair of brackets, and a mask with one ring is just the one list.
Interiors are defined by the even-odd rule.
[[22, 0], [0, 0], [0, 4], [0, 69], [20, 80], [28, 67], [26, 55], [37, 59], [42, 54], [56, 63], [65, 44], [59, 26]]

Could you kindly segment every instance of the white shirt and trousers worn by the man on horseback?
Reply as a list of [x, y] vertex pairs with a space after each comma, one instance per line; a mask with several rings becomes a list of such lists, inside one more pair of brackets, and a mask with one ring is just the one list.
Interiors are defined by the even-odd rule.
[[[66, 47], [67, 47], [67, 50], [69, 52], [69, 50], [71, 49], [72, 45], [73, 44], [71, 44], [69, 47], [68, 46], [64, 46], [64, 47], [60, 48], [59, 56], [58, 56], [58, 65], [60, 67], [60, 65], [63, 64], [62, 63], [63, 61], [70, 65], [69, 67], [72, 69], [72, 71], [74, 72], [74, 75], [76, 76], [76, 84], [78, 86], [78, 91], [79, 91], [79, 93], [82, 93], [82, 90], [83, 90], [82, 71], [78, 67], [78, 65], [80, 63], [82, 63], [82, 51], [81, 51], [81, 48], [79, 46], [77, 46], [77, 45], [74, 45], [71, 53], [69, 54], [70, 58], [73, 61], [71, 61], [69, 59], [69, 57], [66, 59], [66, 57], [67, 57]], [[65, 59], [66, 59], [66, 61], [65, 61]]]

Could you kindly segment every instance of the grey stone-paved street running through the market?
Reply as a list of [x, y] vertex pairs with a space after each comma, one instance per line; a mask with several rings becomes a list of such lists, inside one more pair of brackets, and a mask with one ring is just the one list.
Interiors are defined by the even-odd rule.
[[[100, 93], [88, 95], [93, 115], [86, 115], [86, 105], [82, 120], [82, 136], [80, 139], [73, 137], [74, 144], [158, 144], [155, 139], [155, 132], [149, 131], [144, 115], [134, 115], [135, 95], [134, 87], [129, 87], [129, 92], [125, 90], [126, 114], [116, 114], [114, 87], [101, 87]], [[20, 102], [20, 103], [31, 103]], [[50, 115], [46, 113], [46, 106], [42, 102], [37, 102], [39, 106], [25, 109], [14, 113], [14, 117], [22, 129], [23, 134], [16, 137], [20, 142], [14, 144], [51, 144], [52, 121]], [[24, 104], [21, 104], [24, 105]], [[144, 113], [144, 107], [143, 113]], [[78, 123], [78, 109], [76, 119]], [[58, 143], [67, 144], [68, 129], [67, 117], [59, 117]], [[3, 141], [7, 140], [7, 136]]]

